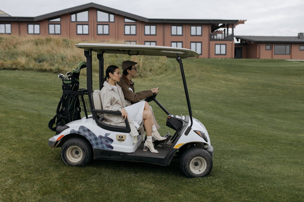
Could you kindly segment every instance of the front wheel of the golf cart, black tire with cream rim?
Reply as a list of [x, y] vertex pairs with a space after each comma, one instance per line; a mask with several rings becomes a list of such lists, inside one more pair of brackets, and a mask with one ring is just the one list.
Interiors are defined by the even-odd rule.
[[181, 172], [187, 177], [205, 177], [211, 172], [213, 162], [205, 149], [190, 147], [181, 155], [179, 165]]

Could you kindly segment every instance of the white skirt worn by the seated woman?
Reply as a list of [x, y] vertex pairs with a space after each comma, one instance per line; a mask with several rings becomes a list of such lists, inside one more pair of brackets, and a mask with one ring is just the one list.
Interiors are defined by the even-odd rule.
[[140, 101], [135, 104], [126, 106], [124, 109], [128, 114], [128, 119], [130, 119], [135, 127], [138, 129], [140, 123], [143, 121], [143, 109], [145, 108], [145, 101]]

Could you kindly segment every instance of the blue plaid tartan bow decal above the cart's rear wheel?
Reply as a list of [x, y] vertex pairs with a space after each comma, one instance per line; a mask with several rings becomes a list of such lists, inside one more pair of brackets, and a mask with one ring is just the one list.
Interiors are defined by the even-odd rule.
[[84, 136], [85, 138], [90, 141], [93, 148], [98, 149], [106, 149], [106, 150], [113, 150], [113, 146], [111, 145], [113, 143], [113, 139], [111, 139], [109, 136], [110, 133], [106, 133], [105, 136], [95, 135], [92, 131], [90, 131], [87, 127], [80, 126], [78, 131], [71, 130], [70, 133], [80, 134]]

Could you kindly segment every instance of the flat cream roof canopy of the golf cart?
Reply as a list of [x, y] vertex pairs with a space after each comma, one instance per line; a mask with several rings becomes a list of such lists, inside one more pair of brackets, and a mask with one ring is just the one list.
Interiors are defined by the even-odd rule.
[[151, 46], [151, 45], [129, 45], [129, 44], [95, 44], [95, 43], [79, 43], [75, 45], [77, 48], [95, 51], [97, 53], [114, 53], [128, 55], [153, 55], [166, 56], [168, 58], [176, 58], [179, 54], [180, 58], [198, 57], [195, 51], [186, 48], [174, 48], [168, 46]]

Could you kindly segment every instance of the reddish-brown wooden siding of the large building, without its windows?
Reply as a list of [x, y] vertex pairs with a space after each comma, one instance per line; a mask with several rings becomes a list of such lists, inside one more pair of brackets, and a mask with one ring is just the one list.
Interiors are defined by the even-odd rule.
[[[233, 41], [210, 41], [210, 25], [209, 24], [163, 24], [163, 23], [146, 23], [137, 20], [136, 22], [124, 22], [125, 17], [122, 15], [114, 15], [114, 22], [97, 22], [97, 9], [88, 9], [89, 22], [71, 22], [71, 13], [60, 16], [60, 22], [49, 22], [48, 19], [37, 22], [10, 22], [12, 25], [12, 35], [27, 36], [28, 24], [40, 24], [40, 34], [37, 36], [49, 35], [49, 24], [60, 24], [59, 37], [75, 38], [83, 41], [136, 41], [136, 44], [143, 45], [145, 41], [156, 41], [156, 45], [171, 46], [171, 41], [181, 41], [183, 48], [191, 48], [191, 42], [201, 42], [202, 55], [199, 58], [234, 58], [234, 42]], [[88, 35], [78, 35], [77, 25], [89, 25]], [[98, 35], [97, 25], [109, 25], [109, 35]], [[125, 35], [125, 25], [136, 25], [136, 35]], [[145, 25], [156, 25], [156, 35], [145, 35]], [[181, 25], [182, 35], [171, 35], [171, 26]], [[191, 36], [191, 26], [202, 26], [201, 36]], [[19, 29], [20, 28], [20, 29]], [[226, 55], [215, 55], [214, 44], [226, 43]], [[210, 44], [210, 47], [209, 47]], [[210, 50], [210, 52], [209, 52]]]

